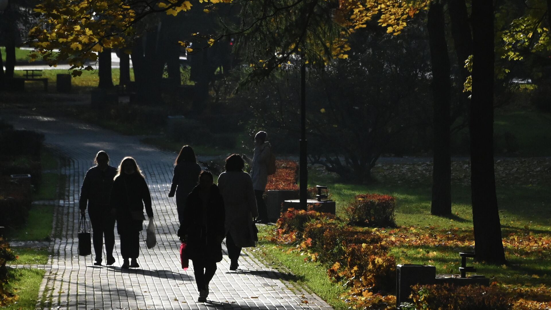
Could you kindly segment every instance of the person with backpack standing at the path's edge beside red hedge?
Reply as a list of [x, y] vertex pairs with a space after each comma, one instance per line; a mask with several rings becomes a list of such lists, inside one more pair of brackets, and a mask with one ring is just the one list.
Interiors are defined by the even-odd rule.
[[266, 141], [268, 133], [265, 131], [258, 131], [255, 136], [255, 153], [252, 157], [252, 161], [245, 154], [243, 159], [252, 166], [251, 179], [252, 186], [255, 190], [256, 205], [258, 207], [258, 218], [255, 223], [268, 224], [268, 210], [264, 203], [264, 191], [266, 190], [266, 183], [268, 183], [268, 175], [273, 174], [275, 171], [276, 159], [272, 154], [272, 146], [270, 142]]

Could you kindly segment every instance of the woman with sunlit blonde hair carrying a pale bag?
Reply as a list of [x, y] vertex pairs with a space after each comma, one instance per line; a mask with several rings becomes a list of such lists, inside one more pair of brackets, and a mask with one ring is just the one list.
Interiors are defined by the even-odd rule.
[[[143, 230], [143, 209], [153, 220], [151, 194], [145, 178], [132, 157], [125, 157], [118, 166], [118, 173], [111, 190], [111, 207], [116, 210], [117, 232], [121, 236], [123, 269], [138, 268], [139, 236]], [[132, 259], [132, 263], [128, 263]]]

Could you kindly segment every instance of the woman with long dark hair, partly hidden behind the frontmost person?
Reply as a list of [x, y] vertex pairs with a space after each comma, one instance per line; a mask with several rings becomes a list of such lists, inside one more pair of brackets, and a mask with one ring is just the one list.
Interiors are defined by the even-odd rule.
[[187, 195], [197, 185], [199, 173], [201, 173], [201, 166], [197, 164], [193, 148], [188, 145], [183, 146], [174, 162], [174, 177], [172, 177], [169, 192], [169, 197], [174, 197], [174, 194], [176, 194], [176, 210], [178, 211], [180, 225], [182, 225], [182, 214]]

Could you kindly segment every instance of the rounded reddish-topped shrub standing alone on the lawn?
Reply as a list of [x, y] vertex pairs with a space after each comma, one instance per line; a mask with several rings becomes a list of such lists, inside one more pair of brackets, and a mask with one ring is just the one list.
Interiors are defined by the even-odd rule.
[[346, 209], [351, 224], [359, 226], [396, 226], [395, 197], [380, 194], [356, 195]]

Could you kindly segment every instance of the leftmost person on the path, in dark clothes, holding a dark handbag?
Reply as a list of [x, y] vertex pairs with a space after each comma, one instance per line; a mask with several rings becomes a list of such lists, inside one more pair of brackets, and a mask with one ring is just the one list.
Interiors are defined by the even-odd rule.
[[106, 263], [112, 265], [115, 263], [115, 215], [111, 212], [110, 197], [117, 168], [109, 165], [109, 155], [105, 151], [96, 154], [94, 163], [95, 167], [88, 169], [80, 187], [80, 213], [84, 216], [88, 207], [96, 254], [94, 265], [101, 265], [104, 236]]

